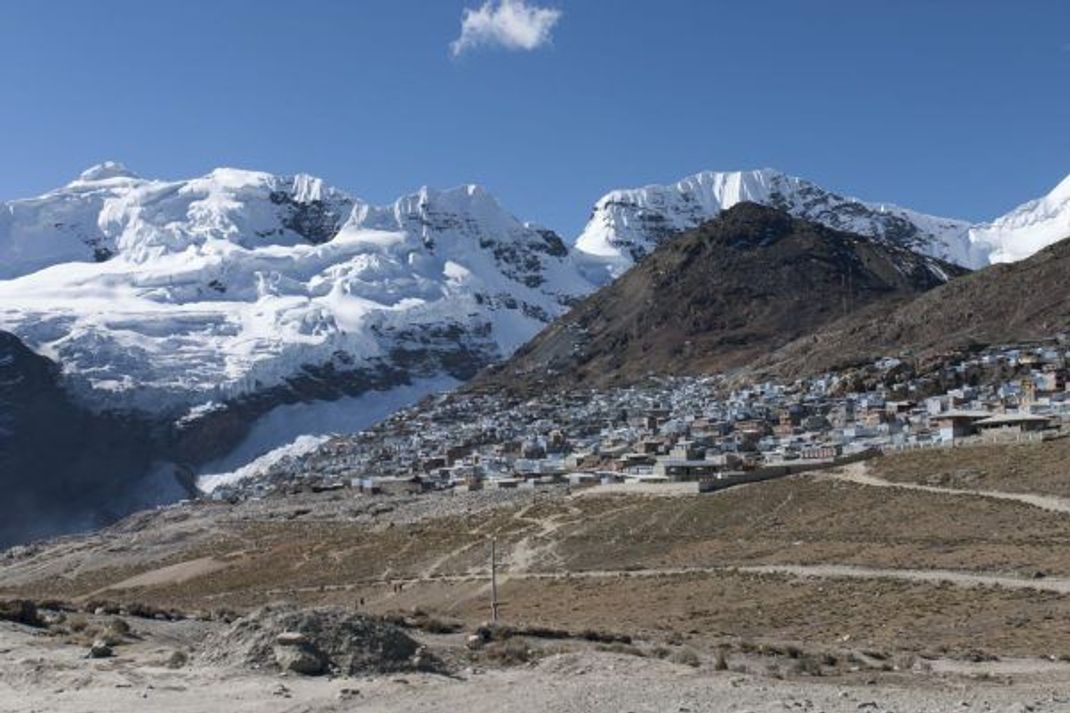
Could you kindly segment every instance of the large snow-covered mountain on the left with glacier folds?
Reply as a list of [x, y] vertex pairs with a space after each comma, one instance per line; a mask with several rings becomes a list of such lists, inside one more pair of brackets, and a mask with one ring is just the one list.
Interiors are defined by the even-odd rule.
[[0, 328], [89, 401], [153, 412], [306, 366], [500, 358], [590, 289], [556, 236], [478, 186], [378, 208], [308, 176], [119, 164], [3, 206], [0, 271]]

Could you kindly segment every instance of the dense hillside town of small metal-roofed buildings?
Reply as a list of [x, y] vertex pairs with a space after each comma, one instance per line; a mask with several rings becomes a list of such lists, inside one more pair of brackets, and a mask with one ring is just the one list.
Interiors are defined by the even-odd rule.
[[212, 497], [552, 484], [705, 491], [878, 453], [1043, 440], [1070, 424], [1068, 365], [1070, 345], [1058, 337], [958, 354], [924, 376], [886, 358], [792, 383], [651, 377], [534, 399], [448, 393]]

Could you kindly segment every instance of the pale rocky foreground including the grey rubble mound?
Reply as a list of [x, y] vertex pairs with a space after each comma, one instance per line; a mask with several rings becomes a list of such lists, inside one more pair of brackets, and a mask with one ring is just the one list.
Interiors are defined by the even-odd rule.
[[[2, 711], [1070, 710], [1070, 666], [1059, 663], [943, 662], [816, 677], [804, 659], [773, 663], [793, 661], [786, 655], [662, 658], [641, 643], [571, 638], [509, 638], [473, 648], [463, 633], [406, 633], [388, 622], [292, 610], [232, 623], [44, 616], [51, 623], [0, 622]], [[326, 628], [277, 628], [300, 627], [302, 618]], [[361, 636], [353, 636], [356, 621], [367, 625]], [[96, 640], [87, 646], [80, 634]], [[341, 667], [334, 659], [322, 669], [318, 658], [312, 668], [297, 663], [302, 651], [342, 641], [349, 649]]]

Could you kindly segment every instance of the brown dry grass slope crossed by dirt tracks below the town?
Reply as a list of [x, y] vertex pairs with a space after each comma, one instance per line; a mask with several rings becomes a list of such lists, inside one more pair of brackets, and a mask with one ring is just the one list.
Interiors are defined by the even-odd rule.
[[[1033, 482], [1054, 491], [1059, 483], [1055, 461], [1070, 455], [1070, 445], [961, 450], [953, 455], [962, 459], [942, 465], [949, 455], [889, 457], [874, 468], [895, 480], [921, 468], [944, 472], [939, 469], [957, 464], [982, 468], [985, 479], [1003, 483], [999, 479], [1011, 477], [1010, 464], [1025, 462], [1039, 473]], [[999, 489], [1009, 488], [1000, 484]], [[1070, 596], [733, 572], [628, 576], [635, 570], [779, 563], [1070, 575], [1070, 517], [978, 497], [802, 476], [694, 498], [546, 499], [411, 525], [220, 519], [215, 527], [212, 537], [138, 564], [112, 558], [94, 568], [94, 547], [105, 551], [113, 546], [109, 542], [73, 548], [63, 577], [41, 576], [10, 590], [34, 598], [86, 596], [147, 570], [216, 557], [229, 566], [184, 582], [94, 597], [186, 611], [242, 610], [279, 600], [341, 604], [372, 613], [418, 611], [412, 616], [415, 625], [457, 631], [459, 624], [472, 627], [489, 619], [484, 574], [486, 543], [493, 535], [503, 563], [503, 612], [519, 632], [613, 633], [593, 640], [618, 642], [622, 649], [630, 641], [620, 635], [628, 634], [669, 642], [666, 655], [681, 647], [715, 652], [740, 640], [805, 642], [807, 651], [866, 647], [962, 656], [1070, 651], [1070, 631], [1058, 625], [1070, 619]], [[153, 530], [137, 536], [132, 551], [150, 551]], [[510, 579], [513, 558], [521, 553], [530, 572], [618, 574]], [[407, 579], [412, 581], [401, 581]], [[77, 619], [68, 625], [76, 631]], [[791, 662], [800, 657], [781, 650], [778, 670], [790, 673]], [[518, 656], [517, 651], [501, 653], [510, 661]], [[720, 666], [720, 658], [710, 661]], [[811, 674], [829, 667], [820, 658], [816, 665], [805, 661], [794, 667]]]

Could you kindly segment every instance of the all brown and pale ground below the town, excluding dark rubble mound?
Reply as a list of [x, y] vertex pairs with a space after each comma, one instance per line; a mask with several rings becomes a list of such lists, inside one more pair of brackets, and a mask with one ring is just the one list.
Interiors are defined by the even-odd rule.
[[[969, 454], [993, 472], [1025, 458], [1054, 479], [1063, 450]], [[872, 472], [943, 482], [958, 471], [911, 454]], [[0, 710], [1066, 710], [1070, 516], [849, 475], [675, 498], [327, 492], [187, 504], [15, 548], [0, 555], [0, 600], [58, 596], [90, 613], [68, 615], [66, 628], [81, 633], [66, 638], [0, 622]], [[1044, 491], [1048, 480], [1027, 485]], [[471, 631], [488, 617], [490, 536], [504, 617], [529, 627], [513, 650], [529, 663], [471, 652], [463, 632], [429, 625], [410, 631], [449, 677], [280, 678], [213, 663], [230, 609], [265, 603], [409, 621], [421, 610]], [[1035, 579], [1038, 570], [1048, 575]], [[133, 635], [116, 657], [86, 658], [74, 621], [110, 621], [107, 602], [200, 615], [120, 611]], [[610, 634], [631, 641], [597, 639]], [[188, 662], [170, 668], [177, 649]], [[721, 655], [731, 670], [716, 670]]]

